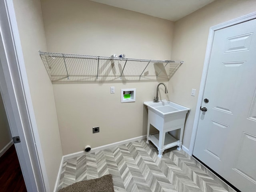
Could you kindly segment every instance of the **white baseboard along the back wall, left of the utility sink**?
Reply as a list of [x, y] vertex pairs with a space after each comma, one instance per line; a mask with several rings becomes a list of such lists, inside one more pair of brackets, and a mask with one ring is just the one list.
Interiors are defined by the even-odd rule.
[[71, 159], [71, 158], [74, 158], [74, 157], [79, 157], [79, 156], [84, 155], [84, 154], [97, 152], [97, 151], [100, 151], [100, 150], [116, 147], [116, 146], [119, 146], [119, 145], [123, 145], [123, 144], [127, 144], [127, 143], [130, 143], [130, 142], [142, 140], [142, 139], [145, 139], [145, 138], [146, 138], [146, 135], [143, 135], [143, 136], [134, 137], [134, 138], [131, 138], [131, 139], [118, 141], [118, 142], [115, 142], [115, 143], [110, 143], [110, 144], [107, 144], [107, 145], [91, 148], [90, 152], [79, 151], [79, 152], [76, 152], [76, 153], [67, 154], [67, 155], [63, 156], [63, 159], [67, 160], [67, 159]]

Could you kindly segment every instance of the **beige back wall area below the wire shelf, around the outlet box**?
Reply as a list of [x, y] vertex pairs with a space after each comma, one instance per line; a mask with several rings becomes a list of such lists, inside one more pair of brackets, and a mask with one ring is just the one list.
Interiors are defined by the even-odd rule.
[[[166, 84], [168, 82], [165, 82]], [[153, 100], [158, 82], [54, 84], [64, 154], [146, 135], [144, 101]], [[110, 86], [116, 93], [110, 94]], [[136, 88], [136, 102], [121, 103], [121, 88]], [[168, 99], [161, 88], [160, 96]], [[92, 127], [100, 132], [92, 134]]]

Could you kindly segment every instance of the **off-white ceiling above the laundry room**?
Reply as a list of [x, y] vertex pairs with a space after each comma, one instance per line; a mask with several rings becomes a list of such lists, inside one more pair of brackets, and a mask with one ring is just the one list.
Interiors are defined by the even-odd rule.
[[146, 15], [177, 21], [214, 0], [91, 0]]

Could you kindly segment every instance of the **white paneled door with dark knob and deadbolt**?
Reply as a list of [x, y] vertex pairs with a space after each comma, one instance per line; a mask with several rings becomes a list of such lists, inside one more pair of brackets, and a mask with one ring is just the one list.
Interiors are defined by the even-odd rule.
[[256, 191], [256, 19], [214, 33], [203, 107], [193, 155], [242, 192]]

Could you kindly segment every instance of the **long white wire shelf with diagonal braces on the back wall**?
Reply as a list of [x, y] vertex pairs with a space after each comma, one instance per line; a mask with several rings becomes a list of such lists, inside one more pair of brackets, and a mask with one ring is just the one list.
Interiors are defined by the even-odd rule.
[[169, 80], [183, 63], [40, 51], [39, 54], [53, 83]]

